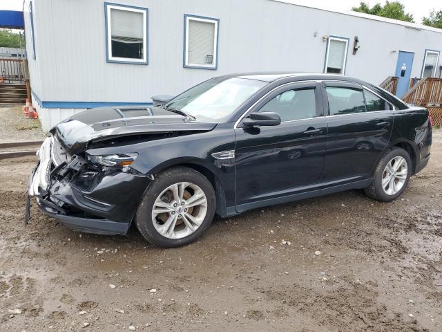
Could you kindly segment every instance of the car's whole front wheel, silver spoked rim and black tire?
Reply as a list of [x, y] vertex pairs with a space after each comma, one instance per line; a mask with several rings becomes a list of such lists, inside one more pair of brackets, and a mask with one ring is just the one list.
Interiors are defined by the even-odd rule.
[[175, 167], [155, 178], [137, 210], [135, 224], [155, 246], [184, 246], [209, 227], [215, 204], [215, 191], [204, 175]]

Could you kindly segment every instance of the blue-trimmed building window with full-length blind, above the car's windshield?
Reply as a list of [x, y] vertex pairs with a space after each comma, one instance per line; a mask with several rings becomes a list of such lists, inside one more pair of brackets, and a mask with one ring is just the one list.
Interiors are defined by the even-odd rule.
[[184, 15], [184, 67], [218, 67], [219, 19]]

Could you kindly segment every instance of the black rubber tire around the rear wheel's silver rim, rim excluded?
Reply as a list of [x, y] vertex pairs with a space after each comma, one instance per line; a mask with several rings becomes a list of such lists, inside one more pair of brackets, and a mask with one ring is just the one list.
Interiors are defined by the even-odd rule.
[[[390, 162], [393, 158], [401, 156], [407, 162], [407, 178], [405, 179], [405, 183], [401, 190], [396, 192], [396, 194], [387, 194], [382, 187], [382, 177], [384, 173], [384, 169], [387, 166], [387, 163]], [[382, 202], [391, 202], [397, 199], [404, 192], [405, 188], [408, 185], [408, 181], [410, 181], [410, 176], [412, 174], [412, 160], [410, 155], [404, 149], [400, 147], [394, 147], [389, 151], [385, 151], [383, 156], [378, 160], [378, 164], [376, 165], [376, 169], [374, 170], [373, 182], [371, 185], [365, 188], [365, 194], [371, 197], [372, 199], [376, 199]]]

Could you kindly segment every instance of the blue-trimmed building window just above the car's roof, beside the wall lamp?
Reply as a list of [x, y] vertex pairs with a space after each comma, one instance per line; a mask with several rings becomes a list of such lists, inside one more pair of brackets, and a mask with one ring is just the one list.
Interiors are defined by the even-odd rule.
[[347, 38], [329, 37], [325, 52], [324, 73], [345, 74], [348, 41]]

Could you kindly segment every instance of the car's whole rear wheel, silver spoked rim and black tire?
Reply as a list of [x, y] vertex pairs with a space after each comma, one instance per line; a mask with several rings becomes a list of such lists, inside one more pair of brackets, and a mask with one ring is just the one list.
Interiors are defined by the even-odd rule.
[[404, 192], [411, 174], [410, 155], [404, 149], [395, 147], [378, 161], [373, 182], [365, 188], [365, 194], [378, 201], [394, 201]]

